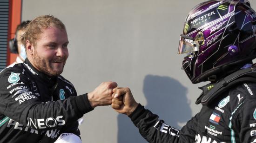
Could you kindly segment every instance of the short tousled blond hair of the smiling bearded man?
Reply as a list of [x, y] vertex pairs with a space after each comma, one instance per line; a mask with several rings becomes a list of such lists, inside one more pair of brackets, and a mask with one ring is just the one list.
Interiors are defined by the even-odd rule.
[[21, 36], [22, 44], [26, 46], [26, 41], [28, 40], [30, 43], [32, 43], [32, 45], [36, 45], [36, 40], [40, 38], [39, 35], [44, 29], [50, 26], [57, 27], [61, 30], [66, 30], [66, 27], [61, 20], [52, 15], [41, 15], [28, 23], [25, 33]]

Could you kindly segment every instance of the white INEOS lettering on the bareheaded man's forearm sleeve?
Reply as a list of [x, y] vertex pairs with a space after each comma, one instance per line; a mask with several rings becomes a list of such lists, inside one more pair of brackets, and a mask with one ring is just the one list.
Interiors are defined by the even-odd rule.
[[61, 126], [65, 124], [65, 120], [62, 119], [63, 116], [58, 116], [56, 119], [54, 117], [48, 117], [47, 119], [32, 119], [27, 118], [27, 126], [32, 129], [46, 129], [54, 128], [57, 125]]

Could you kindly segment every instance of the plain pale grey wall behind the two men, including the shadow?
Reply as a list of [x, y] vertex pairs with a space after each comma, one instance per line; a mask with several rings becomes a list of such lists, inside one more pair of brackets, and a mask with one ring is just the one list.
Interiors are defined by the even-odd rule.
[[[180, 128], [201, 108], [177, 55], [187, 13], [204, 0], [23, 0], [22, 20], [52, 14], [63, 21], [69, 58], [63, 76], [78, 94], [103, 81], [128, 86], [137, 102]], [[253, 7], [256, 1], [251, 0]], [[83, 143], [146, 143], [110, 106], [84, 115]]]

